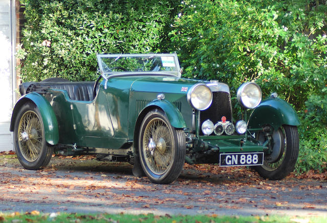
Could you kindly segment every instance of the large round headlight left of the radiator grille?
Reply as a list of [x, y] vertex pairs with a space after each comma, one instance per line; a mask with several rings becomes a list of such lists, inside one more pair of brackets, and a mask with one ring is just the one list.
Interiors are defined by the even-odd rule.
[[196, 84], [188, 92], [188, 102], [197, 110], [205, 110], [213, 102], [213, 92], [205, 84]]

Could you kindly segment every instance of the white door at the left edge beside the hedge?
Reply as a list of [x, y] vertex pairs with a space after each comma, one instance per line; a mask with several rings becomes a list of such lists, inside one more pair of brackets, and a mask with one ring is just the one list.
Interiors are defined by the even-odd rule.
[[0, 0], [0, 151], [13, 149], [9, 132], [13, 108], [10, 0]]

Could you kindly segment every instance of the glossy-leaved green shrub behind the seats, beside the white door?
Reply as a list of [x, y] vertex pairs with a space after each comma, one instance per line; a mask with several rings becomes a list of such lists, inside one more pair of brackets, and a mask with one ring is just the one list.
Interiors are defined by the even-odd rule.
[[22, 0], [24, 81], [50, 77], [95, 80], [97, 53], [158, 52], [165, 44], [171, 1]]

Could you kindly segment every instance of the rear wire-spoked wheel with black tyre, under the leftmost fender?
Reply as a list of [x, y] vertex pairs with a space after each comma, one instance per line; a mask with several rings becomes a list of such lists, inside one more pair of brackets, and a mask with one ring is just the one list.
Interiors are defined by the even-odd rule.
[[16, 116], [14, 146], [20, 164], [26, 169], [40, 169], [50, 162], [53, 147], [45, 141], [41, 114], [33, 103], [22, 106]]

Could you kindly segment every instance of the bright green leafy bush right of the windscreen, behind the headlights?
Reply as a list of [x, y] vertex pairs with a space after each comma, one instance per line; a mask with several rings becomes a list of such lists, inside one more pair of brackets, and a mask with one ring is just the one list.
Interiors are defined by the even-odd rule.
[[325, 1], [185, 0], [170, 33], [185, 77], [216, 79], [234, 93], [255, 81], [295, 107], [298, 171], [326, 169], [326, 12]]

